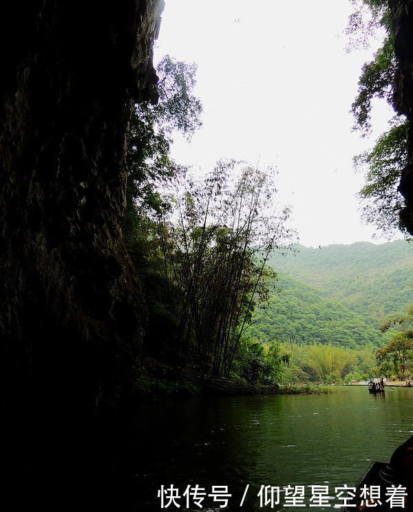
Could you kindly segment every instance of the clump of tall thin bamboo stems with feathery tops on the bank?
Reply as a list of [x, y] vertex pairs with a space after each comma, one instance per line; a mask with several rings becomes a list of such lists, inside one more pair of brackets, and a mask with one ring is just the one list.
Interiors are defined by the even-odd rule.
[[184, 364], [229, 374], [256, 301], [268, 297], [268, 255], [290, 235], [288, 209], [276, 213], [273, 204], [274, 176], [221, 161], [204, 181], [176, 186], [158, 233], [165, 281], [176, 290], [174, 346]]

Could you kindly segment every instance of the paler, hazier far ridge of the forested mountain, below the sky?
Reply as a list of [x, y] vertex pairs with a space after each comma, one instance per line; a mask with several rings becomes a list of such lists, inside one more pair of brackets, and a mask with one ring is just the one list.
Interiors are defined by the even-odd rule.
[[273, 256], [270, 264], [324, 299], [374, 319], [375, 326], [412, 301], [413, 245], [404, 240], [296, 249], [284, 257]]

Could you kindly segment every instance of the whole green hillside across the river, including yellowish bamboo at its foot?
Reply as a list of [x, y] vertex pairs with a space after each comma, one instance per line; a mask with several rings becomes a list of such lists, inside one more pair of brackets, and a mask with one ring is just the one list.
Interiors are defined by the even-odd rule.
[[348, 383], [396, 372], [392, 361], [378, 367], [374, 352], [394, 335], [395, 323], [409, 325], [410, 313], [396, 314], [412, 297], [409, 243], [297, 246], [269, 262], [282, 271], [248, 332], [264, 343], [277, 339], [291, 354], [283, 383]]

